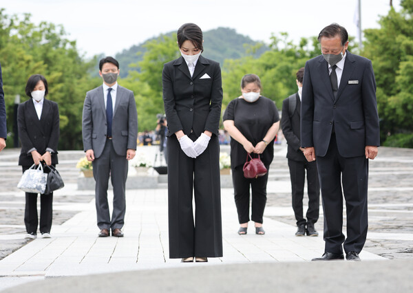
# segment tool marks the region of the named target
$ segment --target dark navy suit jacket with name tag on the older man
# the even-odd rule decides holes
[[[366,146],[380,144],[372,62],[348,51],[336,99],[322,55],[307,61],[304,69],[301,146],[314,146],[315,154],[324,157],[333,124],[337,148],[345,158],[362,156]]]

